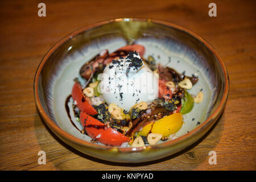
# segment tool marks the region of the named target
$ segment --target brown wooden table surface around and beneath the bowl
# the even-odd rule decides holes
[[[0,169],[2,170],[255,170],[255,1],[0,1]],[[208,16],[210,2],[217,17]],[[58,40],[101,20],[137,17],[176,23],[208,40],[228,68],[224,113],[197,143],[173,156],[143,164],[94,159],[61,142],[40,118],[33,79],[42,57]],[[46,165],[38,152],[46,151]],[[217,164],[208,163],[209,151]]]

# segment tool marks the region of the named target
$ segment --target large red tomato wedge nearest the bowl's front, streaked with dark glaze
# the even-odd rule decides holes
[[[112,127],[107,127],[104,123],[84,112],[80,113],[80,121],[86,134],[108,146],[121,146],[123,142],[129,142],[131,140]]]

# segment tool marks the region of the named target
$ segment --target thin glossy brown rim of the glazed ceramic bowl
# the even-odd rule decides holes
[[[142,151],[142,150],[150,149],[150,148],[151,149],[156,149],[156,148],[168,147],[168,146],[171,146],[173,144],[183,142],[184,140],[187,140],[188,138],[192,137],[192,135],[200,133],[200,131],[204,130],[205,127],[207,127],[208,125],[213,125],[213,123],[217,120],[217,118],[220,117],[220,114],[222,113],[222,110],[224,109],[226,100],[228,99],[228,93],[229,93],[228,71],[227,71],[220,55],[218,55],[217,51],[206,40],[204,40],[203,38],[201,38],[199,35],[195,34],[194,32],[192,32],[190,30],[187,30],[186,28],[177,26],[176,24],[173,24],[173,23],[170,23],[170,22],[164,22],[163,20],[147,19],[147,18],[118,18],[118,19],[105,20],[103,22],[90,24],[89,26],[80,28],[79,30],[74,31],[71,34],[68,34],[63,39],[61,39],[59,42],[57,42],[51,49],[49,49],[49,51],[43,57],[42,61],[39,63],[39,66],[38,66],[38,69],[36,70],[35,78],[34,78],[35,102],[36,102],[36,106],[38,107],[40,115],[43,117],[44,121],[51,128],[51,130],[55,131],[55,133],[57,133],[58,135],[63,136],[65,139],[68,139],[71,142],[79,144],[80,146],[92,147],[92,148],[96,148],[96,149],[99,149],[99,150],[111,150],[112,148],[114,148],[113,146],[101,146],[99,144],[86,142],[85,140],[81,140],[79,138],[76,138],[73,135],[68,134],[66,131],[60,129],[60,127],[57,126],[51,120],[51,118],[48,117],[48,115],[46,114],[46,111],[44,111],[43,106],[40,103],[39,94],[38,94],[38,82],[39,82],[39,76],[41,74],[41,71],[44,67],[44,64],[48,60],[49,56],[51,56],[52,53],[57,48],[59,48],[59,46],[61,46],[61,44],[63,44],[65,41],[67,41],[71,37],[83,32],[85,30],[89,30],[90,28],[98,27],[98,26],[101,26],[103,24],[112,23],[112,22],[121,22],[121,21],[133,21],[133,20],[137,20],[137,21],[141,21],[141,22],[151,21],[153,23],[158,23],[158,24],[163,24],[163,25],[168,26],[168,27],[173,27],[173,28],[176,28],[178,30],[186,32],[187,34],[193,36],[194,38],[196,38],[200,42],[204,43],[204,45],[214,54],[214,56],[216,56],[218,62],[221,65],[222,71],[224,72],[224,75],[225,75],[225,90],[224,90],[224,93],[222,95],[221,101],[218,104],[218,107],[216,108],[214,113],[211,114],[201,125],[199,125],[195,129],[193,129],[189,133],[187,133],[187,134],[185,134],[185,135],[183,135],[179,138],[176,138],[174,140],[170,140],[168,142],[156,144],[154,146],[144,146],[144,147],[138,147],[138,148],[136,148],[136,147],[117,147],[118,151],[121,151],[121,152],[137,152],[137,151]]]

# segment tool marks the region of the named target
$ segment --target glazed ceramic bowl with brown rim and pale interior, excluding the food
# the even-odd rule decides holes
[[[152,55],[158,63],[198,76],[199,82],[189,93],[196,95],[201,90],[203,102],[195,104],[191,113],[184,116],[184,125],[174,139],[138,148],[91,143],[88,135],[72,125],[65,111],[73,78],[79,77],[80,67],[102,49],[113,52],[132,43],[145,47],[144,57]],[[228,92],[228,72],[209,43],[183,27],[153,19],[114,19],[72,32],[47,52],[34,80],[38,111],[57,137],[84,154],[121,163],[164,158],[195,143],[217,121]]]

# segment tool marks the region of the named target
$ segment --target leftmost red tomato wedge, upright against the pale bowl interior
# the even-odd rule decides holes
[[[82,86],[78,82],[75,82],[73,85],[72,97],[76,101],[80,111],[84,111],[90,115],[98,114],[97,110],[92,106],[90,98],[84,96],[82,93]]]

